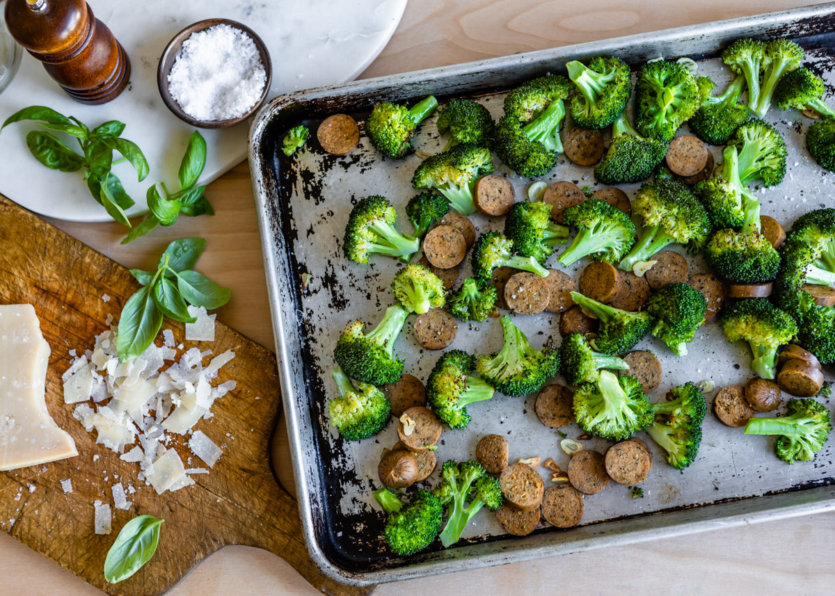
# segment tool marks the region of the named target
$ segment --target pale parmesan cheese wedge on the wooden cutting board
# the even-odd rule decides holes
[[[0,305],[0,471],[78,455],[47,410],[49,353],[32,305]]]

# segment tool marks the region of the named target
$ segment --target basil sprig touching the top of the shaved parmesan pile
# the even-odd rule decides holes
[[[120,361],[133,360],[151,345],[163,316],[193,323],[195,317],[189,314],[188,305],[211,310],[229,301],[229,288],[192,270],[205,245],[202,238],[175,240],[159,257],[156,271],[130,270],[142,287],[130,296],[119,317],[116,350]]]

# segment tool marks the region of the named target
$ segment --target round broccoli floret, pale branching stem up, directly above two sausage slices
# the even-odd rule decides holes
[[[585,431],[621,441],[652,424],[652,407],[634,376],[600,371],[594,383],[574,391],[574,418]]]

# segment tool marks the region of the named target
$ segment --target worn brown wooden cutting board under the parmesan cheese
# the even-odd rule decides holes
[[[193,486],[158,495],[136,480],[138,464],[123,462],[118,454],[97,445],[94,433],[73,418],[73,406],[63,402],[61,381],[69,351],[92,348],[94,337],[106,329],[107,316],[118,320],[124,302],[138,287],[122,265],[0,196],[0,304],[35,307],[52,348],[47,407],[73,436],[79,453],[61,462],[0,472],[0,528],[112,594],[164,593],[227,544],[276,553],[323,593],[371,593],[373,588],[349,588],[326,578],[308,557],[296,502],[270,467],[268,448],[281,396],[276,357],[263,346],[220,323],[215,341],[185,342],[187,348],[196,345],[214,354],[235,351],[235,359],[220,370],[218,381],[237,381],[235,391],[215,402],[215,416],[195,427],[223,447],[224,454],[209,474],[193,476]],[[109,302],[102,300],[105,294]],[[166,319],[163,328],[183,341],[182,324]],[[193,455],[182,437],[173,437],[172,446],[185,463]],[[200,465],[195,457],[191,467]],[[63,492],[64,478],[72,480],[73,492]],[[112,507],[115,482],[137,488],[129,495],[134,503],[129,511]],[[114,513],[113,533],[108,536],[94,533],[96,499],[110,503]],[[119,529],[143,513],[165,520],[159,548],[139,573],[109,584],[104,580],[104,557]]]

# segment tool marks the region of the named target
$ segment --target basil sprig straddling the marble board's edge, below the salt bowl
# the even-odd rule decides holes
[[[148,217],[135,228],[131,228],[122,244],[126,245],[140,236],[148,234],[158,225],[174,225],[180,214],[189,217],[197,215],[215,215],[203,193],[205,186],[195,186],[206,164],[206,142],[195,130],[185,148],[185,155],[180,162],[180,190],[170,193],[164,182],[154,184],[148,189]]]

